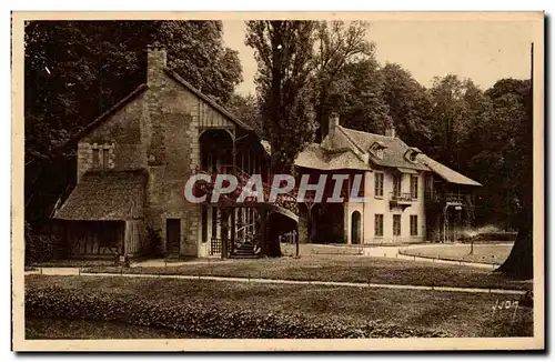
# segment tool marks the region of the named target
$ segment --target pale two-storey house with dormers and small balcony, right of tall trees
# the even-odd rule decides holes
[[[359,174],[363,190],[359,200],[345,198],[341,205],[313,205],[309,240],[396,244],[458,238],[472,209],[473,188],[480,183],[407,145],[394,129],[386,134],[352,130],[340,125],[337,114],[330,117],[327,129],[320,144],[301,152],[297,168],[316,174]],[[326,227],[332,219],[334,232]]]

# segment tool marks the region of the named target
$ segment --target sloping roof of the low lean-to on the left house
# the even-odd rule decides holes
[[[63,220],[132,220],[143,217],[147,172],[85,173],[56,212]]]

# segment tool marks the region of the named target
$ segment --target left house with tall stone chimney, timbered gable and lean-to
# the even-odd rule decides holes
[[[78,135],[78,181],[54,213],[74,257],[139,257],[153,234],[165,255],[219,255],[221,208],[188,202],[185,182],[198,172],[265,173],[252,128],[168,68],[165,49],[147,53],[147,83]],[[243,233],[256,218],[255,208],[229,215]]]

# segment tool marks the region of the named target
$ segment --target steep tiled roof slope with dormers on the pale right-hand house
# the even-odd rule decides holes
[[[359,149],[370,153],[370,159],[375,164],[391,168],[405,168],[430,171],[430,169],[425,164],[418,161],[411,162],[405,158],[405,152],[411,148],[396,137],[394,138],[382,134],[367,133],[344,127],[340,127],[340,130],[343,131],[344,134],[346,134],[347,138],[350,138]],[[385,149],[383,150],[383,158],[381,159],[370,152],[370,148],[375,142],[379,142],[383,147],[385,147]]]

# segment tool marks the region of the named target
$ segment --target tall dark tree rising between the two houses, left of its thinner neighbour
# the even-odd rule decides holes
[[[313,21],[246,21],[245,44],[254,49],[256,92],[274,172],[292,172],[314,135]]]

